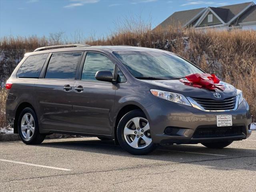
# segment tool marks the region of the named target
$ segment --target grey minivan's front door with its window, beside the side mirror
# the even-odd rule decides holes
[[[82,75],[74,87],[74,126],[78,132],[112,134],[112,114],[116,86],[98,81],[99,70],[114,70],[114,63],[100,52],[87,52]]]

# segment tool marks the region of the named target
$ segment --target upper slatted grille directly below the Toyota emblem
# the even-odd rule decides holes
[[[224,100],[213,100],[207,98],[193,98],[205,110],[231,110],[236,106],[236,96]]]

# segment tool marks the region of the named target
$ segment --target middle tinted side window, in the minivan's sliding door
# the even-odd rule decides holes
[[[53,54],[48,64],[45,78],[48,79],[75,79],[76,68],[82,53]]]

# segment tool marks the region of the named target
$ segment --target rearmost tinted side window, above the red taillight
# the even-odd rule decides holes
[[[47,56],[48,53],[29,56],[20,66],[16,76],[20,78],[38,78]]]

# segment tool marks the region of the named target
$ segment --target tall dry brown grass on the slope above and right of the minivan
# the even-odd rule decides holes
[[[118,32],[106,38],[88,38],[83,42],[90,45],[142,46],[179,54],[206,72],[215,73],[223,81],[241,89],[250,105],[253,120],[256,121],[256,31],[200,32],[182,28],[151,30],[150,25],[140,24],[138,28],[134,25],[136,22],[120,27]],[[73,43],[59,36],[58,41]],[[0,49],[23,49],[29,52],[40,46],[51,45],[53,42],[45,37],[9,37],[0,40]]]

